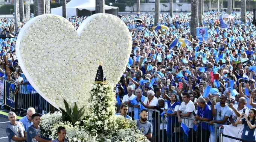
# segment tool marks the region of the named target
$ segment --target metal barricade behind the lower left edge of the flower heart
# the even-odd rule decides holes
[[[20,115],[22,112],[26,112],[29,107],[34,107],[35,111],[41,115],[56,111],[56,108],[44,100],[38,92],[30,92],[27,89],[27,85],[20,85],[20,90],[18,92],[17,108],[21,110]]]

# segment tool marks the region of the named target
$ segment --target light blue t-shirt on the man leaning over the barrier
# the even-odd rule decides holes
[[[216,109],[216,115],[214,117],[214,120],[216,121],[221,121],[224,119],[225,116],[230,117],[232,114],[232,111],[229,106],[227,106],[227,104],[225,105],[225,107],[221,107],[220,103],[216,103],[214,109]],[[217,127],[221,127],[222,125],[227,125],[227,122],[225,122],[224,124],[217,124]]]

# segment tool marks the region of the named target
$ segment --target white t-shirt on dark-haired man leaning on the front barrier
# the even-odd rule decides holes
[[[187,103],[187,105],[185,105],[185,102],[182,102],[180,107],[179,107],[179,110],[183,114],[186,114],[187,112],[191,112],[189,118],[194,119],[194,116],[193,116],[192,112],[195,111],[195,105],[191,100],[189,100],[189,103]],[[187,119],[187,118],[181,118],[181,121],[188,128],[193,128],[193,120]]]

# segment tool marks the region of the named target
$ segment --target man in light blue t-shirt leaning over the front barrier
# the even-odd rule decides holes
[[[214,117],[214,120],[209,122],[209,125],[213,125],[213,123],[217,123],[217,127],[220,127],[221,125],[227,125],[227,119],[232,119],[230,117],[232,115],[232,110],[227,106],[226,104],[227,96],[221,95],[219,97],[219,103],[216,103],[212,99],[212,116]],[[215,129],[215,125],[213,125],[213,128]],[[219,139],[219,129],[217,129],[217,136],[215,137],[215,133],[211,133],[210,140],[212,142],[215,141],[215,139]],[[223,129],[221,129],[221,133],[223,133]]]

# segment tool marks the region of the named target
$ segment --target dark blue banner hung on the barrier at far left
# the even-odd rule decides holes
[[[15,89],[16,85],[5,80],[5,105],[15,109]]]

